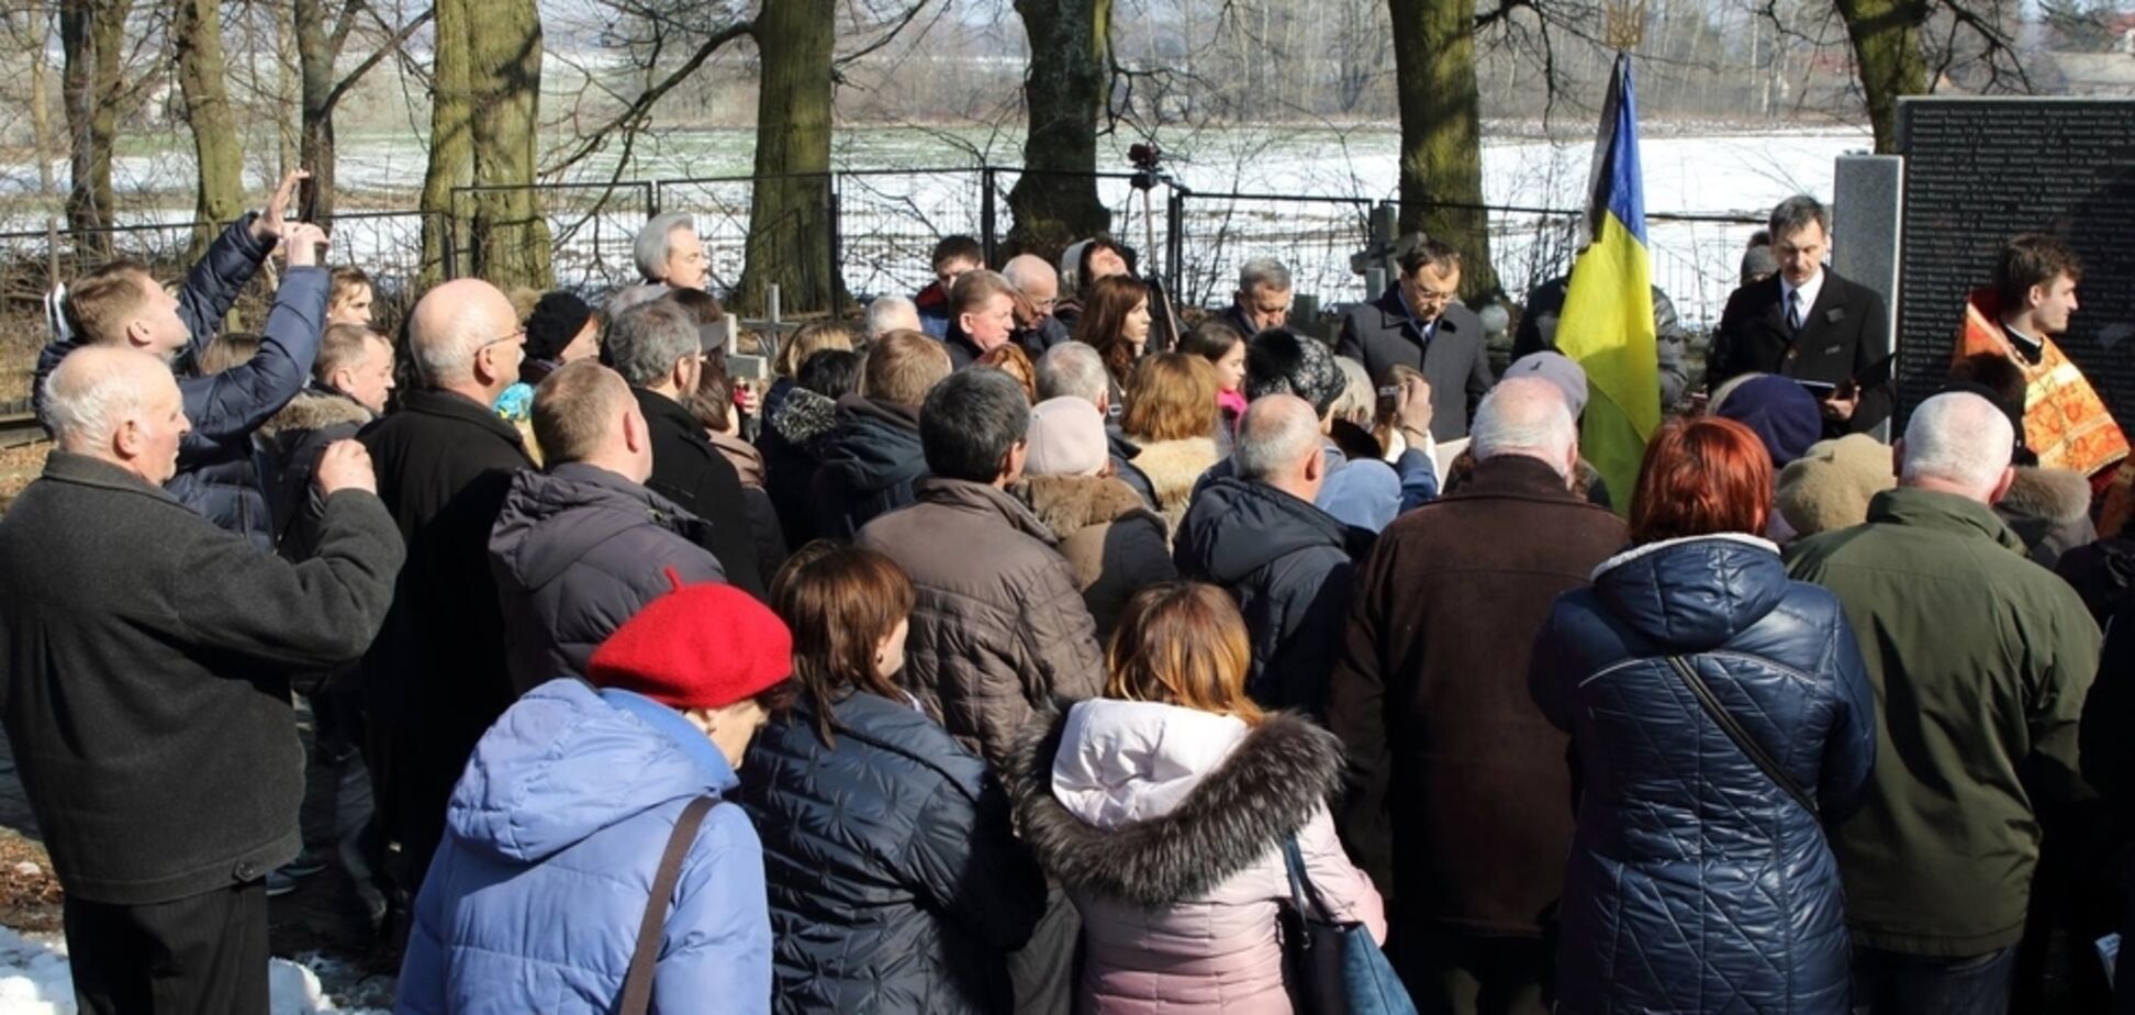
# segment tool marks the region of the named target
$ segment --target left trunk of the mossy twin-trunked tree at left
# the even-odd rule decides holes
[[[474,179],[470,135],[468,21],[470,0],[438,0],[431,24],[429,167],[423,171],[423,284],[459,274],[459,237],[468,235],[453,188]]]

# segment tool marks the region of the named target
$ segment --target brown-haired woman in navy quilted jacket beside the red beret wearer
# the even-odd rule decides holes
[[[773,1011],[1010,1011],[1008,951],[1046,883],[986,763],[897,684],[912,581],[811,543],[771,583],[794,633],[792,714],[758,733],[741,801],[764,840]]]

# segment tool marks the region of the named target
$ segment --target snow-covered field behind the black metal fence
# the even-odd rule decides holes
[[[1123,147],[1127,139],[1119,139]],[[717,280],[741,271],[749,216],[747,130],[673,132],[640,152],[626,179],[662,179],[662,212],[694,212],[713,254]],[[1781,199],[1808,192],[1832,197],[1834,158],[1870,147],[1866,130],[1648,132],[1642,141],[1648,239],[1655,282],[1674,295],[1691,323],[1719,316],[1736,284],[1740,254],[1755,224],[1670,222],[1670,214],[1761,218]],[[1396,197],[1398,135],[1386,128],[1238,128],[1204,130],[1166,150],[1176,182],[1191,190],[1185,203],[1187,301],[1221,303],[1240,261],[1272,254],[1298,276],[1298,293],[1322,303],[1364,299],[1362,278],[1349,254],[1369,237],[1369,207]],[[1505,137],[1484,145],[1484,192],[1490,205],[1578,209],[1593,158],[1591,139],[1541,141]],[[927,250],[939,235],[978,233],[984,207],[980,162],[1016,165],[1012,137],[916,128],[869,128],[839,135],[841,171],[880,171],[839,179],[841,267],[852,293],[914,291],[929,278]],[[395,194],[389,207],[412,205],[423,179],[423,147],[412,137],[348,137],[342,143],[339,182],[348,192]],[[1110,165],[1125,171],[1125,156]],[[557,237],[557,276],[564,284],[604,286],[630,280],[630,237],[647,212],[647,192],[619,192],[594,212],[598,188],[613,162],[581,165],[551,205]],[[120,158],[120,190],[171,186],[190,179],[190,156]],[[32,165],[0,167],[0,192],[34,188]],[[64,177],[64,167],[62,167]],[[258,171],[250,179],[265,188]],[[1006,192],[1012,171],[995,173],[997,222],[1008,229]],[[1168,229],[1164,188],[1155,194],[1157,241]],[[1245,197],[1225,197],[1245,194]],[[1307,194],[1317,201],[1268,194]],[[1114,212],[1114,233],[1144,246],[1140,201],[1125,179],[1100,182],[1100,197]],[[369,203],[369,201],[363,201]],[[566,207],[568,205],[568,207]],[[188,207],[130,216],[137,222],[184,222]],[[41,250],[43,222],[6,222],[30,235],[0,235],[6,250]],[[1492,261],[1503,286],[1518,297],[1567,269],[1576,224],[1561,214],[1497,212],[1490,218]],[[348,218],[337,227],[337,261],[376,267],[395,278],[412,274],[418,256],[416,216]],[[181,231],[162,231],[149,244],[181,244]]]

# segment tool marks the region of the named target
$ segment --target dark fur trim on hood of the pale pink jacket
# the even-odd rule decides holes
[[[1085,825],[1053,795],[1065,707],[1055,703],[1016,735],[1008,791],[1023,842],[1068,889],[1146,908],[1206,895],[1302,829],[1341,786],[1341,739],[1275,712],[1170,814],[1117,829]]]

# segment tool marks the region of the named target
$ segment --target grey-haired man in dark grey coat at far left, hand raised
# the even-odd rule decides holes
[[[401,541],[331,444],[316,556],[260,553],[162,485],[192,430],[122,346],[45,378],[58,449],[0,519],[0,722],[66,889],[83,1013],[267,1013],[269,870],[297,857],[290,673],[357,658]]]

